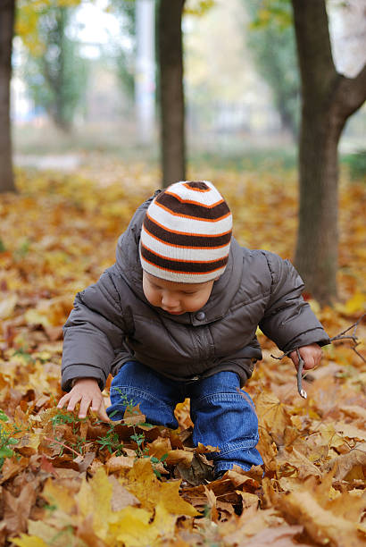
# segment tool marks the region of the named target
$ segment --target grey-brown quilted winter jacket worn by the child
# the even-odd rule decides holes
[[[329,343],[295,268],[277,255],[241,248],[233,238],[229,263],[212,294],[195,313],[171,316],[148,303],[138,256],[141,224],[152,198],[137,209],[119,241],[116,263],[76,296],[64,326],[62,389],[108,374],[137,360],[169,378],[186,380],[230,370],[241,384],[262,358],[257,326],[279,349]]]

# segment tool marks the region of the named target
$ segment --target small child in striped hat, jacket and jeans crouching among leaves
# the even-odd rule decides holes
[[[277,255],[241,248],[229,206],[208,181],[155,192],[118,242],[116,263],[78,293],[64,328],[59,402],[79,417],[108,420],[101,391],[108,374],[114,420],[126,400],[146,422],[177,428],[174,408],[190,398],[193,442],[217,446],[215,475],[262,463],[258,421],[239,391],[262,358],[262,332],[297,365],[320,362],[329,337],[304,302],[304,283]]]

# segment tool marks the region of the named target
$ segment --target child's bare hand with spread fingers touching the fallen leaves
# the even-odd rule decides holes
[[[78,402],[80,403],[79,418],[87,416],[87,408],[91,405],[91,409],[97,412],[101,420],[110,422],[105,412],[102,393],[94,378],[79,378],[72,390],[60,399],[57,408],[63,408],[66,403],[69,403],[66,409],[74,410]]]

